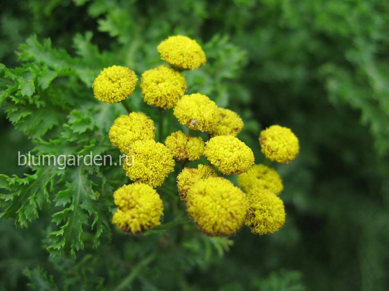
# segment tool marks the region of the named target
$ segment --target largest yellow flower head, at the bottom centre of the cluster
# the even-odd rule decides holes
[[[243,225],[246,194],[229,180],[211,177],[198,181],[186,196],[187,210],[196,225],[209,236],[229,236]]]

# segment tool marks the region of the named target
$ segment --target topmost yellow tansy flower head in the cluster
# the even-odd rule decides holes
[[[183,35],[168,37],[158,45],[157,50],[162,60],[181,70],[193,70],[207,61],[198,43]]]

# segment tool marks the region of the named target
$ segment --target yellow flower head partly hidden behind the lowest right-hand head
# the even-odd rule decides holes
[[[268,189],[276,195],[283,191],[280,175],[263,164],[253,165],[247,173],[238,175],[238,184],[245,192],[256,187]]]

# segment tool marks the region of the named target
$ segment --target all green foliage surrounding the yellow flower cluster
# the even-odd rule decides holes
[[[0,11],[1,290],[388,290],[387,2],[30,0]],[[179,33],[208,59],[184,72],[189,91],[242,116],[256,162],[260,129],[300,139],[300,157],[277,166],[287,219],[274,236],[202,235],[173,207],[170,178],[163,224],[129,237],[110,223],[120,166],[16,165],[18,150],[117,161],[107,134],[125,110],[96,101],[91,83],[106,66],[140,76],[162,64],[156,46]],[[139,88],[128,101],[157,120]]]

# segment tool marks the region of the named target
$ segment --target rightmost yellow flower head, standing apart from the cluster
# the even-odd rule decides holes
[[[259,137],[261,151],[270,161],[288,163],[299,154],[299,140],[292,130],[272,125],[262,130]]]

